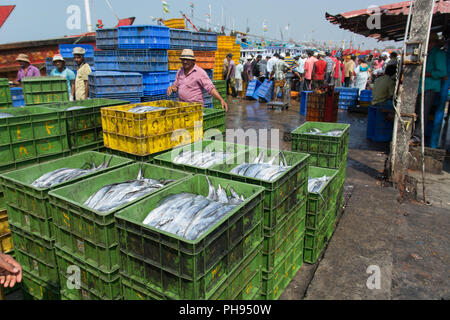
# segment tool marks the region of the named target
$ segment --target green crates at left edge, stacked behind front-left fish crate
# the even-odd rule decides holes
[[[0,172],[60,157],[69,151],[66,122],[53,109],[9,108],[0,119]]]

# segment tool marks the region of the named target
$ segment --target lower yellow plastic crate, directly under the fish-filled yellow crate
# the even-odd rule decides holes
[[[148,156],[203,140],[203,125],[145,138],[103,132],[103,138],[107,148]]]

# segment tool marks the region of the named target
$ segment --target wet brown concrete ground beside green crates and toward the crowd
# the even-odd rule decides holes
[[[278,129],[284,150],[290,150],[284,134],[306,121],[298,102],[284,111],[255,101],[229,103],[227,128]],[[366,140],[367,115],[340,111],[339,122],[351,124],[345,209],[322,258],[305,263],[280,299],[450,299],[450,159],[446,172],[426,174],[431,205],[400,204],[381,179],[389,144]],[[421,181],[420,173],[411,175]],[[379,289],[367,286],[373,270],[380,272]]]

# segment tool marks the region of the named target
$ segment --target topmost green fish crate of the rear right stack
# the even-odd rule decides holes
[[[332,130],[344,130],[344,132],[337,137],[307,134],[306,132],[311,128],[317,128],[323,132]],[[306,122],[291,132],[292,150],[309,153],[312,166],[338,169],[347,159],[349,136],[349,124]]]

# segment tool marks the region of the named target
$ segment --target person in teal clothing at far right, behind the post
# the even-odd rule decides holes
[[[439,94],[441,91],[442,81],[447,78],[447,56],[440,48],[441,43],[437,33],[430,34],[430,41],[428,44],[429,53],[427,58],[427,66],[425,73],[425,94],[424,94],[424,125],[428,123],[428,117],[430,116],[431,108],[433,106],[433,101],[435,94]],[[420,144],[421,137],[421,119],[420,119],[420,109],[421,109],[421,92],[422,92],[422,82],[419,85],[419,95],[417,96],[416,103],[416,129],[414,130],[413,137],[411,139],[411,144]]]

